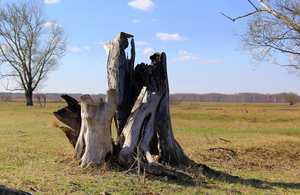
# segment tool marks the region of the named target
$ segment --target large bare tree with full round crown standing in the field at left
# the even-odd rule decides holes
[[[7,1],[0,5],[0,79],[7,90],[23,90],[26,105],[32,92],[57,70],[67,48],[65,30],[49,22],[43,2]],[[9,87],[9,81],[14,85]]]

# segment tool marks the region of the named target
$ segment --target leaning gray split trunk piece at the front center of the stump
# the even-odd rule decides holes
[[[142,88],[123,129],[119,161],[127,163],[133,157],[137,157],[138,145],[139,157],[143,153],[146,156],[146,152],[150,150],[149,143],[154,133],[155,110],[159,100],[160,96],[157,93],[147,91],[146,87]]]

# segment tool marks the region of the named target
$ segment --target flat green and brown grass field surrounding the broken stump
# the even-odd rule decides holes
[[[33,194],[195,194],[194,181],[78,168],[53,111],[0,102],[0,184]],[[174,136],[188,156],[220,174],[199,173],[199,194],[300,194],[300,104],[182,102],[171,105]],[[227,141],[223,141],[223,140]],[[198,144],[198,151],[197,151]],[[223,147],[227,150],[206,150]],[[190,168],[179,167],[187,174]],[[167,180],[166,180],[167,179]],[[34,189],[38,191],[34,191]]]

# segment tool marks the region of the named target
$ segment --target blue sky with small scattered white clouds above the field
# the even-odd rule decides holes
[[[262,63],[253,71],[251,54],[235,50],[238,37],[232,29],[242,31],[247,18],[232,22],[220,12],[244,15],[253,10],[247,0],[46,0],[45,6],[66,29],[69,49],[44,92],[105,93],[103,43],[123,31],[134,35],[135,64],[151,63],[155,52],[166,53],[170,93],[300,94],[299,79],[284,67]]]

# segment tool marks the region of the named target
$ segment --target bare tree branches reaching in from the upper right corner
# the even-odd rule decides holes
[[[240,51],[251,53],[251,62],[271,62],[286,67],[290,74],[300,76],[300,2],[298,0],[258,0],[254,11],[234,19],[247,17],[240,37]],[[286,64],[277,62],[277,55],[287,55]]]

